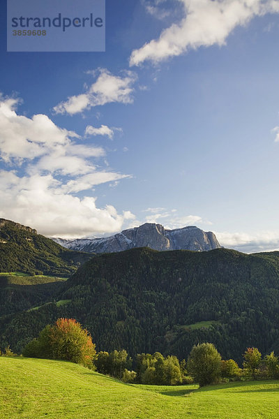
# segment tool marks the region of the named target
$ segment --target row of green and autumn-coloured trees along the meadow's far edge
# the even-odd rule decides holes
[[[2,356],[15,355],[6,348]],[[188,360],[179,361],[174,355],[160,352],[140,353],[133,359],[126,350],[96,352],[89,332],[70,318],[59,318],[47,325],[24,348],[22,355],[31,358],[67,360],[96,370],[125,383],[179,385],[199,383],[200,386],[229,380],[279,379],[279,360],[271,352],[262,358],[257,348],[247,348],[243,367],[236,361],[223,360],[211,343],[194,345]]]

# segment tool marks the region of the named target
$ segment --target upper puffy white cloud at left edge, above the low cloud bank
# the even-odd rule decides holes
[[[80,140],[80,135],[59,128],[47,115],[17,115],[18,103],[0,96],[0,149],[6,163],[18,166],[29,161],[30,173],[49,170],[67,175],[89,172],[94,167],[86,159],[105,156],[102,147],[75,142],[73,138]]]

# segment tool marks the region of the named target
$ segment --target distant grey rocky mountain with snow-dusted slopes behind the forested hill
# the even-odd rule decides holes
[[[150,247],[158,251],[209,251],[220,248],[216,235],[211,231],[205,232],[195,226],[167,230],[156,223],[128,228],[110,237],[74,240],[52,237],[52,240],[67,249],[92,253],[113,253],[135,247]]]

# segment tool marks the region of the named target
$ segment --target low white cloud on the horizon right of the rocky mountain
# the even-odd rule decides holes
[[[256,253],[260,251],[279,250],[279,232],[262,231],[251,235],[248,233],[216,233],[221,246],[242,251]]]

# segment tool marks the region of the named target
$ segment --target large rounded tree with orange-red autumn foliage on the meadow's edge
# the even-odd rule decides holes
[[[67,360],[90,368],[95,354],[89,332],[73,318],[59,318],[54,325],[47,325],[23,351],[24,356]]]

